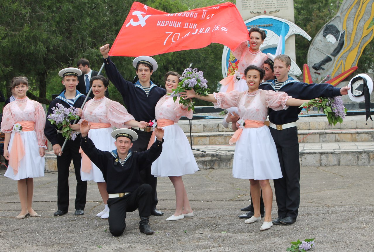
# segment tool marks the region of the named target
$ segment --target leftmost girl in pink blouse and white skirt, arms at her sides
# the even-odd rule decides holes
[[[42,104],[26,96],[26,77],[13,78],[10,86],[17,98],[3,109],[1,131],[5,133],[4,157],[9,160],[4,176],[18,180],[21,213],[17,219],[24,219],[28,215],[37,217],[32,207],[33,178],[44,177],[46,114]]]

